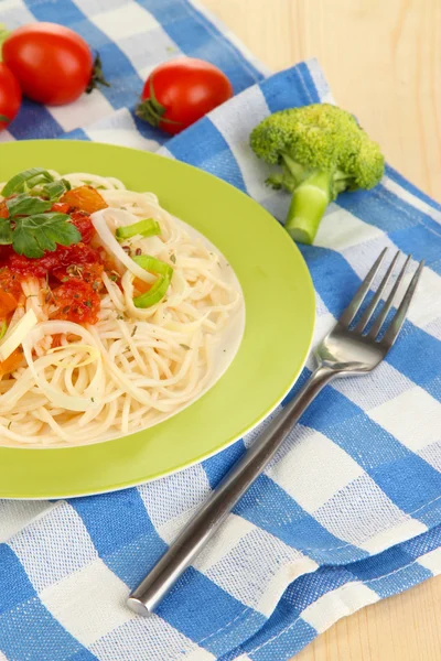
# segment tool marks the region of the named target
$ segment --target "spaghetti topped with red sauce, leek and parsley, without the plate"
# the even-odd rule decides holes
[[[213,384],[244,312],[213,246],[112,177],[34,169],[0,189],[0,444],[126,435]]]

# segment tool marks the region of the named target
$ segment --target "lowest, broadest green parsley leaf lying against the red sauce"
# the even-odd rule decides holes
[[[19,254],[30,258],[43,257],[44,251],[53,252],[56,245],[71,246],[82,239],[82,235],[66,214],[35,214],[26,218],[15,218],[12,232],[12,247]]]

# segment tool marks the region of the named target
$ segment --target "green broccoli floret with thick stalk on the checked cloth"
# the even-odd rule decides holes
[[[252,130],[250,144],[260,159],[281,165],[267,183],[292,193],[284,226],[302,243],[312,243],[338,193],[373,188],[385,169],[379,145],[349,112],[330,104],[270,115]]]

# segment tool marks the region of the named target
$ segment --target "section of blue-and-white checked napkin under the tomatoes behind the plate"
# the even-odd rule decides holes
[[[75,106],[45,108],[24,99],[0,140],[63,138],[68,131],[85,138],[84,129],[97,122],[93,131],[99,136],[93,140],[157,149],[168,137],[133,111],[154,66],[182,54],[203,57],[227,74],[236,94],[263,77],[252,56],[241,54],[244,46],[202,10],[186,0],[1,0],[0,22],[10,30],[35,21],[75,30],[99,52],[111,86],[84,95]]]

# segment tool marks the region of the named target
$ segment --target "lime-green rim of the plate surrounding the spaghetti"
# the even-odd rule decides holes
[[[0,145],[0,181],[28,167],[117,176],[211,239],[246,302],[239,351],[194,404],[144,432],[68,448],[0,447],[0,498],[61,498],[122,489],[216,454],[281,401],[310,350],[314,290],[286,231],[256,202],[201,170],[148,152],[62,140]]]

